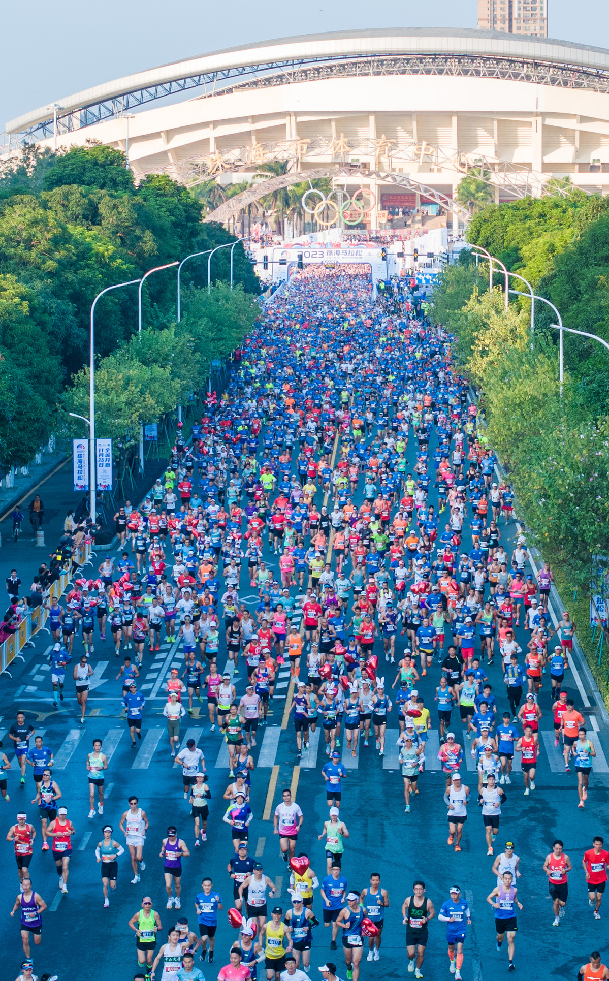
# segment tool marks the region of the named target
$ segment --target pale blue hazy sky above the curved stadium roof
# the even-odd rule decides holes
[[[306,7],[256,0],[220,7],[192,0],[3,4],[0,129],[91,85],[218,48],[348,27],[477,26],[477,0],[393,7],[391,14],[369,0],[313,0]],[[548,22],[550,37],[609,48],[608,0],[548,0]]]

